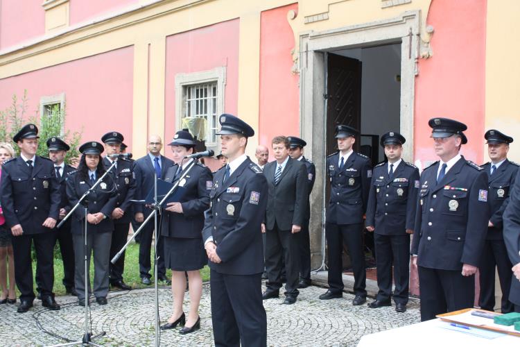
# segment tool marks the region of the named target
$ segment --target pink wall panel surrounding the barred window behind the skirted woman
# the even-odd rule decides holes
[[[164,143],[177,130],[175,113],[175,75],[226,67],[224,112],[236,115],[239,88],[239,19],[232,19],[193,31],[166,37],[166,96]],[[240,117],[240,115],[237,115]],[[165,155],[171,158],[166,148]],[[206,160],[216,169],[212,160]]]

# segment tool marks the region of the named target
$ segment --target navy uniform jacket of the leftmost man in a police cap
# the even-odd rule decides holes
[[[53,162],[36,155],[31,173],[26,162],[17,157],[3,164],[1,175],[1,206],[6,226],[20,224],[24,235],[51,231],[42,223],[48,217],[58,221],[60,212],[60,184]]]

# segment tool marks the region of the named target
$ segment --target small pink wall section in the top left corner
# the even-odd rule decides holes
[[[0,49],[45,33],[42,0],[0,0]]]

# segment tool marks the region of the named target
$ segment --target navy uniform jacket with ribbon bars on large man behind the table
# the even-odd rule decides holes
[[[486,174],[462,157],[437,183],[438,167],[435,162],[421,175],[412,253],[430,269],[478,266],[489,221]]]

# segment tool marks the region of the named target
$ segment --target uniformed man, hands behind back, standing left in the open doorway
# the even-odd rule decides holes
[[[331,197],[327,208],[325,236],[329,251],[329,290],[320,299],[343,296],[342,251],[347,245],[354,269],[352,305],[367,301],[365,253],[363,252],[363,215],[367,207],[372,164],[363,154],[352,150],[358,130],[344,125],[336,126],[339,151],[327,158],[327,174],[331,180]]]

